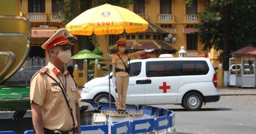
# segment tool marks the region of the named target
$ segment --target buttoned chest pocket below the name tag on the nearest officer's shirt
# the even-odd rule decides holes
[[[52,93],[50,94],[52,102],[62,102],[62,101],[64,101],[64,95],[63,95],[62,90],[59,86],[50,86],[50,89],[52,91]]]

